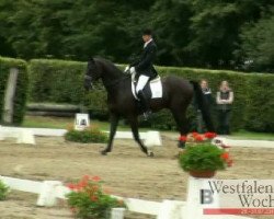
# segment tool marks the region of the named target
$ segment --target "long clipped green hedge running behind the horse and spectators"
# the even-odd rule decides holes
[[[106,118],[106,94],[101,83],[96,89],[85,93],[82,81],[85,62],[43,60],[30,62],[31,101],[83,104],[93,117]],[[124,66],[119,65],[119,68]],[[191,80],[206,79],[214,96],[219,83],[227,80],[235,91],[232,110],[232,129],[247,128],[255,131],[274,131],[274,76],[264,73],[240,73],[226,70],[205,70],[192,68],[158,67],[160,76],[178,76]],[[213,107],[213,111],[215,107]],[[260,113],[259,113],[260,112]],[[213,115],[216,115],[213,112]],[[189,116],[195,118],[190,107]],[[169,122],[169,123],[167,123]],[[215,118],[216,122],[216,118]],[[152,116],[142,125],[152,128],[175,129],[174,120],[168,111]]]

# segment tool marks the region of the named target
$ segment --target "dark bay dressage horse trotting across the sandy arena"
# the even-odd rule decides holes
[[[92,89],[92,82],[99,79],[102,79],[103,85],[107,92],[107,105],[111,118],[109,143],[102,151],[102,154],[107,154],[107,152],[112,151],[113,138],[116,132],[118,120],[121,117],[125,117],[128,120],[134,138],[140,146],[142,152],[147,155],[153,155],[152,152],[148,152],[147,147],[144,146],[139,138],[138,115],[141,112],[132,93],[130,76],[123,73],[114,64],[105,59],[92,58],[88,61],[88,69],[84,76],[85,90]],[[178,77],[167,77],[161,79],[161,81],[163,95],[162,99],[152,99],[150,101],[150,110],[152,112],[169,108],[176,122],[181,136],[185,136],[187,134],[185,117],[186,108],[195,94],[207,129],[209,131],[214,130],[209,113],[203,101],[202,90],[197,82],[186,81]]]

